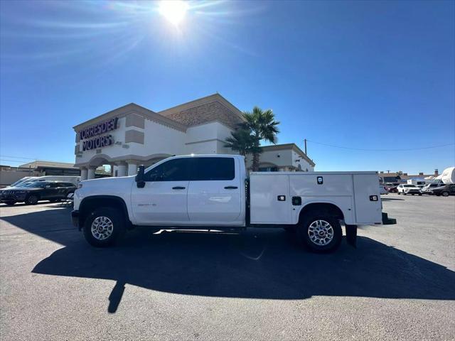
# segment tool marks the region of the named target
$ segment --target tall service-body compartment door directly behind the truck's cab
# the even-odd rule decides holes
[[[250,222],[252,224],[291,222],[289,175],[250,174]]]

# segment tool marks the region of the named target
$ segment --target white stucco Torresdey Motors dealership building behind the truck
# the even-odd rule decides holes
[[[136,174],[139,164],[149,166],[168,156],[236,153],[224,146],[225,139],[242,120],[242,112],[220,94],[162,112],[127,104],[73,127],[75,166],[85,180],[94,178],[101,165],[124,176]],[[259,164],[264,171],[313,171],[314,166],[295,144],[263,147]]]

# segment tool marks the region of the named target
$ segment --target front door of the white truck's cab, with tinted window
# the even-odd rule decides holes
[[[191,166],[191,158],[173,158],[144,174],[144,188],[134,183],[131,200],[137,224],[188,223]]]

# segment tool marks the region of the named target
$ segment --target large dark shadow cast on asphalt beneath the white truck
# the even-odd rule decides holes
[[[50,226],[50,215],[60,223]],[[299,247],[293,234],[281,229],[152,234],[138,228],[116,247],[95,249],[71,228],[67,209],[1,220],[65,245],[36,264],[33,273],[117,281],[109,295],[109,313],[117,310],[126,284],[232,298],[455,300],[454,271],[368,237],[358,237],[358,249],[343,242],[333,254],[311,254]]]

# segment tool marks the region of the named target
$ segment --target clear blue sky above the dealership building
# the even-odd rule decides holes
[[[74,162],[75,124],[220,92],[319,171],[454,166],[454,1],[191,1],[178,27],[158,6],[1,1],[0,163]]]

